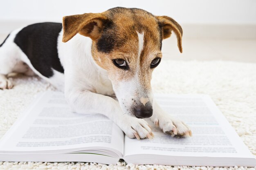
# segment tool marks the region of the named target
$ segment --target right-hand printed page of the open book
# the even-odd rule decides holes
[[[125,136],[125,156],[253,157],[209,96],[157,95],[155,99],[168,114],[188,124],[193,137],[166,135],[148,119],[155,137],[138,141]]]

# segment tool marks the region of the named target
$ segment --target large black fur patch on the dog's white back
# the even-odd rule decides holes
[[[61,29],[61,23],[32,24],[20,30],[14,39],[33,67],[48,78],[53,75],[52,69],[64,73],[57,50],[57,39]]]

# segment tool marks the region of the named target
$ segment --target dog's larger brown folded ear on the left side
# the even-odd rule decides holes
[[[84,13],[63,17],[63,42],[69,41],[77,33],[96,40],[108,18],[102,13]]]

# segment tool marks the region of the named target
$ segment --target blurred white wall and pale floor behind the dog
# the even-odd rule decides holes
[[[65,15],[112,7],[141,8],[168,15],[183,28],[183,53],[175,36],[164,40],[168,60],[256,62],[256,0],[5,0],[0,6],[0,42],[20,26],[61,22]]]

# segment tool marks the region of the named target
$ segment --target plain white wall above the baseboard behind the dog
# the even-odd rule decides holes
[[[2,0],[0,21],[61,21],[64,15],[137,7],[183,24],[256,24],[256,0]]]

